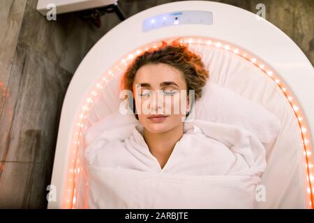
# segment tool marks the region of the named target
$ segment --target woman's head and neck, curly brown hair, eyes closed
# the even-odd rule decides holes
[[[138,56],[126,71],[122,86],[132,91],[135,99],[140,99],[133,99],[135,117],[144,127],[142,135],[160,168],[165,167],[174,146],[184,135],[183,117],[188,116],[192,107],[190,101],[202,96],[202,87],[208,78],[209,72],[200,57],[176,41],[170,45],[163,42],[160,49]],[[186,100],[190,97],[189,90],[195,95],[192,100]],[[181,93],[186,93],[187,97],[181,97]],[[142,109],[147,101],[145,114]],[[176,114],[174,106],[181,108],[182,104],[186,105],[186,110]],[[170,111],[166,112],[166,107],[170,107]],[[140,114],[136,108],[140,108]]]

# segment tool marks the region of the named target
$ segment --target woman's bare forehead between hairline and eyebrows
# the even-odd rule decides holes
[[[162,82],[175,82],[181,88],[186,86],[182,72],[165,63],[142,66],[137,70],[133,84],[149,83],[151,86],[159,86]]]

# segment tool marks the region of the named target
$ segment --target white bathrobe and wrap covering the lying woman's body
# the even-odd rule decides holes
[[[184,123],[161,169],[142,125],[126,139],[114,139],[119,131],[103,132],[86,148],[89,208],[254,208],[266,160],[251,132],[210,121]]]

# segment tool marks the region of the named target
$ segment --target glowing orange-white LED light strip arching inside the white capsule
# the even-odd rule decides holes
[[[171,39],[174,40],[174,39]],[[167,40],[167,43],[169,43],[171,40]],[[164,40],[165,41],[165,40]],[[165,41],[166,42],[166,41]],[[277,77],[277,75],[274,74],[274,72],[268,68],[265,63],[260,62],[259,59],[257,59],[255,56],[249,55],[247,52],[245,52],[242,49],[239,49],[238,47],[235,47],[233,45],[230,45],[230,43],[225,44],[221,41],[210,39],[210,38],[195,38],[195,37],[184,37],[179,39],[179,43],[188,43],[191,45],[211,45],[213,47],[218,47],[221,49],[225,49],[229,52],[232,52],[234,54],[237,54],[238,56],[243,57],[247,61],[250,61],[255,66],[257,66],[258,69],[262,70],[266,75],[268,75],[274,83],[281,89],[285,97],[287,98],[288,102],[290,103],[294,114],[297,118],[297,121],[299,123],[300,133],[302,137],[302,143],[304,146],[304,157],[305,157],[305,171],[306,171],[306,187],[307,187],[307,193],[308,193],[308,208],[313,208],[313,200],[314,200],[314,171],[313,171],[313,158],[312,158],[312,147],[310,144],[310,137],[308,133],[308,128],[306,126],[306,123],[304,123],[304,118],[301,114],[301,111],[299,109],[299,106],[297,105],[297,102],[295,102],[294,97],[292,96],[292,93],[290,93],[287,90],[287,87],[281,82],[280,78]],[[117,73],[121,72],[121,69],[126,68],[128,63],[133,61],[133,59],[139,55],[142,54],[144,51],[148,51],[150,49],[157,49],[162,45],[161,41],[158,43],[153,43],[150,45],[145,45],[144,47],[140,47],[140,49],[136,49],[134,52],[127,54],[126,56],[123,56],[121,60],[118,61],[118,63],[115,63],[110,70],[105,72],[103,77],[101,77],[93,89],[91,89],[89,95],[87,95],[87,98],[84,100],[84,104],[82,105],[82,111],[80,112],[79,116],[77,117],[77,124],[75,125],[75,134],[73,134],[73,144],[70,146],[70,153],[69,153],[69,162],[68,162],[68,169],[67,169],[67,177],[66,177],[66,194],[63,196],[62,201],[62,208],[76,208],[77,204],[77,195],[76,195],[76,185],[75,181],[77,178],[77,174],[80,173],[80,170],[82,169],[82,166],[80,165],[80,160],[77,158],[78,154],[78,146],[80,145],[80,141],[82,141],[82,134],[84,133],[84,128],[87,125],[87,116],[89,115],[89,110],[91,109],[91,106],[96,101],[96,98],[98,95],[100,95],[100,91],[102,91],[105,84],[110,82],[110,79],[114,77]]]

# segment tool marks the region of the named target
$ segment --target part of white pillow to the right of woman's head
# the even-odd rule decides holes
[[[262,105],[210,80],[202,98],[195,101],[195,118],[245,128],[264,144],[273,141],[281,129],[279,119]]]

